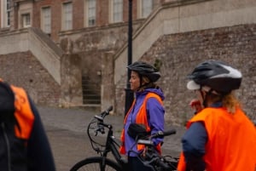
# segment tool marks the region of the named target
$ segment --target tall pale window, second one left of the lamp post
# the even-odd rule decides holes
[[[86,0],[87,17],[86,26],[95,26],[96,25],[96,0]]]

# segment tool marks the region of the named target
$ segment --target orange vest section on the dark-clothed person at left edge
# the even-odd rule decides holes
[[[4,83],[1,78],[0,82]],[[12,85],[7,84],[7,86],[9,86],[15,94],[15,119],[17,121],[17,125],[15,125],[15,136],[22,140],[28,140],[32,132],[34,115],[26,91],[23,88]]]

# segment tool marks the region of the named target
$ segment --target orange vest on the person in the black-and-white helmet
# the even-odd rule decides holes
[[[225,108],[206,108],[189,121],[187,128],[195,122],[204,123],[207,130],[207,171],[256,170],[256,130],[243,111],[230,114]],[[182,153],[177,170],[185,168]]]

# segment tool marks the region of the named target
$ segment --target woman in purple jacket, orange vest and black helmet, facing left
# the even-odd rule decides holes
[[[138,127],[143,125],[145,132],[154,134],[164,130],[165,109],[163,100],[165,99],[162,90],[156,85],[160,78],[160,72],[148,63],[137,61],[128,66],[131,70],[131,90],[135,93],[130,110],[125,115],[124,129],[121,134],[121,145],[119,151],[128,156],[131,171],[150,171],[139,161],[137,155],[145,149],[143,145],[136,145]],[[134,124],[136,123],[136,124]],[[160,152],[162,139],[154,139],[155,148]]]

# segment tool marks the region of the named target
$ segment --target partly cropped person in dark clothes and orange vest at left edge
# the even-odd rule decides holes
[[[55,171],[38,111],[23,88],[0,79],[0,170]]]

